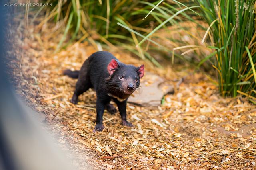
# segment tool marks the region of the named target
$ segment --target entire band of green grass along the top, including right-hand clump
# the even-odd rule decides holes
[[[68,33],[72,35],[68,43],[90,41],[95,48],[97,43],[118,46],[158,67],[161,64],[150,55],[150,50],[161,51],[171,54],[165,57],[172,63],[178,57],[194,68],[211,68],[216,72],[223,96],[240,93],[253,100],[256,96],[256,0],[53,0],[51,3],[50,12],[47,12],[49,7],[40,8],[35,17],[45,12],[48,20],[65,23],[56,51],[67,45]],[[202,27],[199,20],[209,27]],[[184,21],[196,23],[198,29],[206,31],[205,36],[195,37],[186,26],[181,26]],[[203,45],[157,34],[159,30],[174,31],[168,30],[173,25]],[[168,47],[162,41],[180,46]],[[201,49],[210,51],[210,55]],[[180,50],[183,51],[179,53]],[[190,59],[191,52],[196,59]]]

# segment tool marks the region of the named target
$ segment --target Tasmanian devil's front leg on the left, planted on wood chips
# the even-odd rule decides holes
[[[96,102],[97,117],[96,117],[96,126],[94,127],[96,131],[102,131],[104,129],[104,126],[102,124],[104,109],[105,109],[104,102],[99,98],[97,98],[97,102]]]

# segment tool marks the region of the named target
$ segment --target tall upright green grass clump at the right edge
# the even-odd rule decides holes
[[[216,47],[213,67],[223,96],[242,91],[256,96],[255,0],[196,0],[210,25],[208,44]],[[246,83],[243,83],[246,82]]]

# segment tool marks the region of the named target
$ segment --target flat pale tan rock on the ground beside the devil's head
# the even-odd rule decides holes
[[[166,94],[173,94],[174,87],[164,78],[147,73],[140,82],[140,89],[128,98],[128,102],[142,107],[157,107]]]

